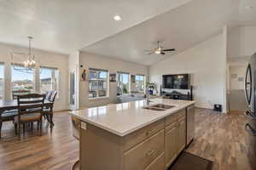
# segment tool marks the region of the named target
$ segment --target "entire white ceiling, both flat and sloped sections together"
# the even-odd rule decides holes
[[[123,20],[115,21],[113,16]],[[71,54],[82,50],[152,65],[217,35],[255,25],[255,0],[0,0],[0,42]],[[157,41],[177,52],[148,55]]]

